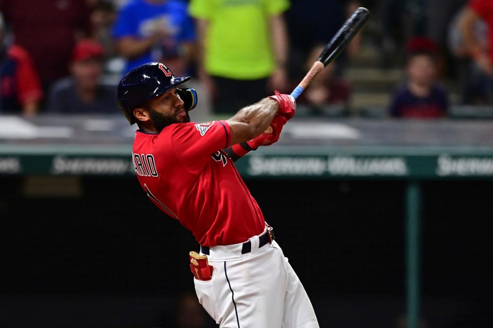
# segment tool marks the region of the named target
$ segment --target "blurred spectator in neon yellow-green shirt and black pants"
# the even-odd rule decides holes
[[[288,90],[288,0],[192,0],[198,74],[215,113],[234,113],[273,90]]]

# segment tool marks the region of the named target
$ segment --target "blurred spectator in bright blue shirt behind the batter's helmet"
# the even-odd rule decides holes
[[[150,61],[173,67],[175,75],[189,73],[194,29],[182,1],[130,0],[113,28],[118,52],[127,59],[124,73]]]

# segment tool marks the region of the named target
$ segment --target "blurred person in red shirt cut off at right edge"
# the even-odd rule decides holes
[[[475,33],[479,20],[483,20],[488,27],[487,45],[483,45]],[[484,87],[485,100],[493,104],[493,1],[469,0],[459,24],[465,47],[479,70],[480,74],[477,78],[481,80]]]

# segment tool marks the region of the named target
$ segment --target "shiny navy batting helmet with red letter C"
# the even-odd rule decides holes
[[[147,100],[160,96],[176,86],[191,79],[190,76],[176,77],[161,63],[147,63],[128,72],[118,84],[117,101],[130,125],[136,122],[133,111]],[[194,89],[177,88],[177,93],[184,101],[186,111],[197,106],[197,93]]]

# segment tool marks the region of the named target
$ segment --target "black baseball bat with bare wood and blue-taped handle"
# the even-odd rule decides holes
[[[312,67],[301,80],[299,85],[291,92],[291,96],[296,99],[298,96],[307,88],[312,79],[327,65],[331,63],[332,60],[337,58],[337,56],[346,49],[349,42],[353,37],[361,30],[363,25],[365,25],[368,17],[370,16],[370,11],[366,8],[357,8],[351,17],[349,17],[344,25],[337,31],[337,33],[332,37],[324,50],[320,53],[318,59],[313,63]],[[272,133],[272,128],[267,128],[266,133]]]

